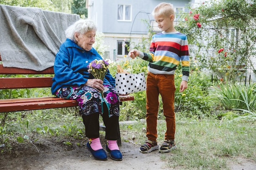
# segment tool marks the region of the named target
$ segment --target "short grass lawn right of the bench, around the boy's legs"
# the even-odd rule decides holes
[[[158,143],[164,140],[165,123],[158,123]],[[146,139],[146,124],[121,126],[124,140],[141,145]],[[256,122],[216,119],[176,119],[177,149],[168,161],[170,168],[186,170],[228,170],[227,163],[234,157],[256,162]]]

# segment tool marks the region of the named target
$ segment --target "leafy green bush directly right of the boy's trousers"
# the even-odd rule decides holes
[[[182,74],[177,69],[175,74],[175,110],[184,117],[203,118],[210,116],[214,103],[211,102],[209,87],[212,85],[211,77],[195,69],[189,75],[188,88],[179,92]]]

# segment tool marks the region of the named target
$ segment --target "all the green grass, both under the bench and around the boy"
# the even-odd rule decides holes
[[[0,126],[0,144],[4,152],[11,152],[11,144],[19,142],[31,145],[38,138],[65,141],[86,140],[81,117],[74,110],[62,114],[54,109],[21,113],[9,113],[5,126]],[[159,144],[164,140],[165,121],[157,125]],[[146,140],[145,120],[132,125],[121,125],[122,141],[132,141],[140,146]],[[101,132],[103,133],[103,132]],[[228,163],[235,157],[256,162],[256,122],[228,119],[187,119],[176,116],[175,141],[177,149],[162,154],[161,159],[173,169],[229,170]],[[3,150],[1,150],[3,152]],[[5,153],[6,154],[6,153]]]

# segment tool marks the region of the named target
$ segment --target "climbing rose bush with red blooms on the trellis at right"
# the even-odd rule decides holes
[[[192,69],[197,61],[227,81],[242,80],[246,68],[255,70],[256,0],[212,0],[189,9],[176,29],[188,37]]]

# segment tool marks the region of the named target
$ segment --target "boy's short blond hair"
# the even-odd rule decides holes
[[[170,16],[170,15],[173,15],[173,17],[175,18],[175,12],[174,12],[174,9],[173,9],[173,4],[170,4],[170,3],[165,3],[165,2],[162,2],[160,4],[158,4],[153,12],[152,12],[152,15],[155,16],[155,15],[165,15],[165,16]]]

